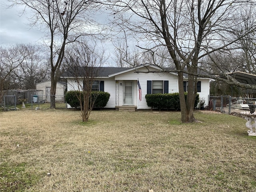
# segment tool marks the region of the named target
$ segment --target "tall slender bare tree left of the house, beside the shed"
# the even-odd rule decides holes
[[[33,13],[30,18],[32,26],[38,26],[42,32],[48,33],[44,43],[49,48],[51,68],[50,108],[55,108],[56,83],[65,47],[81,36],[100,34],[100,25],[92,19],[99,4],[90,0],[8,1],[12,6],[23,5],[29,9]]]

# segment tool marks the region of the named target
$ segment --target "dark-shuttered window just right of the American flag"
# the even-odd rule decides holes
[[[169,81],[147,81],[147,94],[168,93]]]

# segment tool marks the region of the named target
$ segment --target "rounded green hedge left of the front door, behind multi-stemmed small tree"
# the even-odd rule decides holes
[[[84,103],[83,92],[76,91],[68,91],[65,95],[65,100],[71,107],[78,108],[80,107],[80,101],[78,99],[79,94],[81,93],[82,104]],[[108,92],[103,91],[92,91],[92,100],[96,97],[93,108],[104,108],[108,100],[110,98],[110,94]]]

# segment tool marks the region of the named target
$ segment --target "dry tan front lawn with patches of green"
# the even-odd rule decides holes
[[[195,112],[25,110],[0,113],[0,190],[255,191],[245,120]]]

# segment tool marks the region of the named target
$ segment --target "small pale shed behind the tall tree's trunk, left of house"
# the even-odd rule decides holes
[[[57,82],[56,94],[55,94],[56,102],[64,102],[64,95],[65,95],[66,88],[67,88],[66,82]],[[50,80],[36,83],[36,89],[43,91],[42,100],[45,100],[47,103],[50,102],[50,90],[51,90]]]

